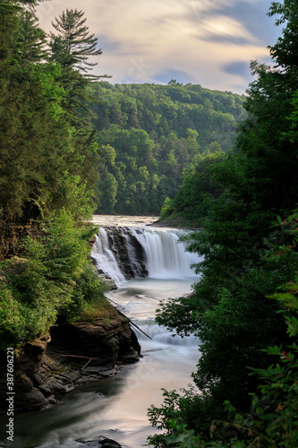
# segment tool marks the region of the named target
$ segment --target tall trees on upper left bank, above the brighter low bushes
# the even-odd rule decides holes
[[[94,207],[99,164],[83,106],[89,82],[72,66],[65,73],[46,49],[34,10],[22,3],[28,2],[6,2],[1,15],[0,222],[26,222],[63,207],[85,219]],[[93,46],[92,39],[84,34]],[[78,57],[88,64],[88,55]]]

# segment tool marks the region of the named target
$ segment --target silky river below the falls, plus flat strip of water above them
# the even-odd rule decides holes
[[[96,223],[100,220],[101,217],[94,219]],[[107,226],[123,224],[119,217],[112,217],[112,223],[108,217],[105,220],[103,223]],[[152,220],[138,217],[132,222],[127,218],[124,225],[140,227]],[[171,230],[148,228],[148,231],[152,232],[149,237],[153,238],[156,235],[160,237],[156,232]],[[100,435],[104,435],[122,444],[123,448],[140,448],[146,444],[148,435],[158,432],[149,425],[147,409],[162,402],[161,388],[173,390],[192,383],[191,373],[200,356],[198,340],[173,337],[154,321],[160,300],[189,293],[192,284],[199,280],[191,270],[187,269],[185,275],[184,267],[181,266],[181,275],[177,275],[177,271],[172,272],[171,266],[167,271],[154,271],[152,268],[153,275],[149,272],[148,278],[123,281],[118,289],[107,294],[152,338],[149,340],[140,333],[140,362],[123,366],[113,378],[82,386],[64,395],[62,404],[18,416],[14,422],[13,446],[78,448],[84,446],[82,441],[98,440]]]

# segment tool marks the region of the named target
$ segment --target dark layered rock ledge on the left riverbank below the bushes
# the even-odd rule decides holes
[[[0,367],[0,409],[6,412],[6,354]],[[55,404],[83,383],[115,375],[122,363],[139,360],[140,344],[129,319],[115,310],[110,319],[51,328],[50,333],[15,350],[14,410]]]

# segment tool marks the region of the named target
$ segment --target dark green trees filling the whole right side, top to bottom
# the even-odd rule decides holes
[[[189,249],[203,255],[191,297],[160,306],[158,323],[200,339],[194,385],[165,391],[149,419],[154,446],[298,444],[298,5],[274,2],[283,24],[273,66],[256,81],[234,151],[200,159],[163,207],[192,218]]]

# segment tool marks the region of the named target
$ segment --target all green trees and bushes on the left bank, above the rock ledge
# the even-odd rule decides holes
[[[89,56],[101,50],[81,11],[66,10],[47,36],[37,3],[0,1],[0,349],[109,309],[85,223],[99,167]]]

